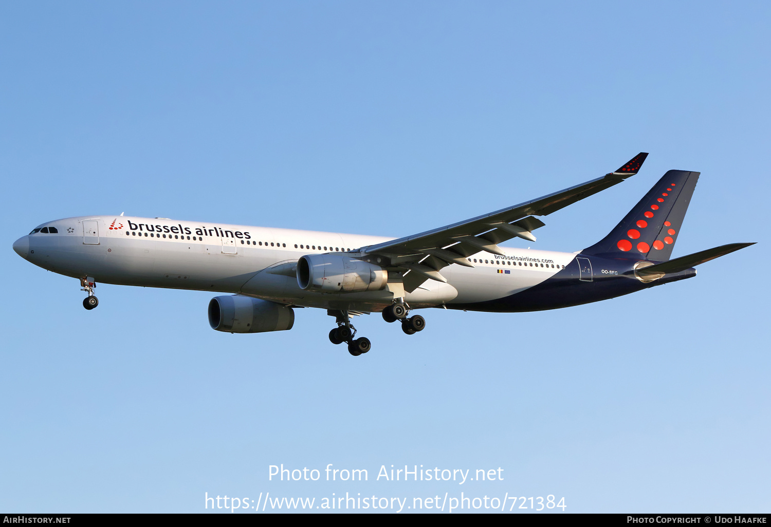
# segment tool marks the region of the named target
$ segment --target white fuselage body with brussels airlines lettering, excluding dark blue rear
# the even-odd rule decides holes
[[[297,279],[271,268],[305,254],[352,251],[387,237],[197,223],[138,217],[74,217],[42,224],[57,233],[32,233],[27,260],[70,277],[97,283],[245,294],[282,304],[326,309],[382,310],[389,288],[329,294],[302,290]],[[21,240],[17,242],[22,246]],[[15,248],[17,246],[15,245]],[[407,293],[415,308],[474,304],[507,297],[557,273],[575,253],[502,247],[505,257],[473,254],[474,268],[442,270],[447,283],[427,280]]]

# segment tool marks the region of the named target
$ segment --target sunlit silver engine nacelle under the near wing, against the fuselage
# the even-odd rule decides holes
[[[379,291],[388,285],[388,271],[340,253],[306,254],[297,263],[297,284],[325,293]]]

